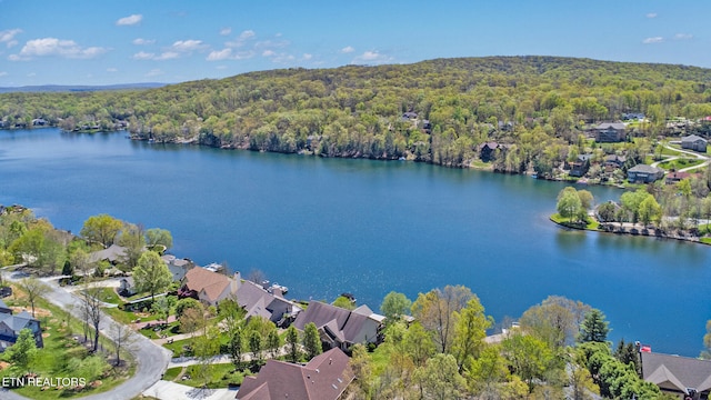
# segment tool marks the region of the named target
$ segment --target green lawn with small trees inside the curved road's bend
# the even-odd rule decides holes
[[[13,288],[13,291],[14,294],[11,298],[4,299],[6,303],[10,307],[28,307],[24,293],[18,290],[17,287]],[[113,344],[103,337],[100,338],[100,346],[106,349],[106,353],[101,350],[97,353],[102,361],[94,367],[90,367],[88,359],[91,353],[80,342],[83,339],[83,334],[80,334],[83,331],[81,321],[68,317],[66,311],[60,310],[44,299],[36,302],[36,309],[37,317],[41,320],[43,327],[44,347],[38,349],[37,357],[31,364],[31,371],[41,378],[87,377],[92,380],[87,381],[87,388],[81,391],[74,391],[71,388],[41,390],[40,387],[28,386],[16,389],[19,394],[31,399],[83,397],[114,388],[136,372],[133,362],[130,361],[130,354],[128,353],[122,354],[123,360],[129,360],[128,364],[122,367],[112,366]],[[18,372],[7,368],[0,371],[0,377],[18,377]],[[90,386],[91,382],[94,382],[93,386],[96,388]]]

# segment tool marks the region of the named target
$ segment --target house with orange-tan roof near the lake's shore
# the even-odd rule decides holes
[[[213,272],[204,268],[193,268],[186,273],[179,297],[192,297],[208,306],[217,306],[220,301],[234,298],[239,286],[239,274],[233,278]]]

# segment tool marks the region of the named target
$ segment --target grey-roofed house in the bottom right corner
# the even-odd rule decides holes
[[[711,361],[641,351],[642,379],[684,399],[708,399]]]

